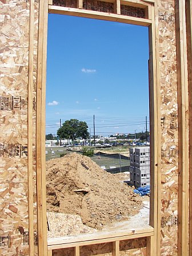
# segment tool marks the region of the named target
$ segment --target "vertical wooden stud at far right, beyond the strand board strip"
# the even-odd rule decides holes
[[[188,202],[189,202],[189,132],[187,90],[187,45],[185,1],[175,1],[177,79],[178,79],[178,143],[179,143],[179,187],[178,187],[178,255],[188,251]]]

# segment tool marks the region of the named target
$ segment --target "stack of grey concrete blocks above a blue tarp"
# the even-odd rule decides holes
[[[135,187],[150,185],[150,147],[130,147],[130,182]]]

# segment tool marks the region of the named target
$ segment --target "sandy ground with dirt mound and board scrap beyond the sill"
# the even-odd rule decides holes
[[[123,182],[126,173],[107,173],[77,153],[51,159],[46,168],[49,237],[127,229],[134,219],[141,226],[137,214],[149,223],[149,205],[143,207],[149,197],[141,198]]]

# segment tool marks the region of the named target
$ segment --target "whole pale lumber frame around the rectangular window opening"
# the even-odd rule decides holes
[[[80,0],[81,1],[81,0]],[[79,6],[81,2],[79,1]],[[120,8],[121,1],[117,0]],[[125,2],[125,1],[123,1]],[[66,247],[74,247],[74,255],[79,255],[79,246],[102,242],[113,242],[113,255],[118,255],[118,244],[121,240],[146,237],[147,254],[153,255],[154,249],[160,248],[160,200],[159,177],[161,168],[161,125],[160,125],[160,94],[158,70],[158,32],[155,30],[155,6],[154,1],[142,2],[129,0],[134,6],[142,3],[147,9],[147,18],[135,18],[116,14],[98,13],[97,11],[72,9],[69,7],[52,6],[51,1],[40,0],[39,2],[39,30],[38,30],[38,65],[37,65],[37,122],[36,122],[36,156],[37,156],[37,210],[38,210],[38,253],[39,255],[51,255],[51,250]],[[141,5],[140,5],[141,6]],[[105,234],[91,234],[86,239],[48,239],[47,245],[47,223],[46,223],[46,167],[45,167],[45,95],[46,95],[46,56],[47,56],[47,19],[48,13],[73,15],[84,18],[102,19],[106,21],[122,22],[133,25],[149,27],[149,93],[150,93],[150,226],[147,229],[117,230],[117,232]],[[158,244],[157,244],[158,243]]]

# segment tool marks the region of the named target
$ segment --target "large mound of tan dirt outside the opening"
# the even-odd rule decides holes
[[[91,158],[71,153],[46,163],[47,211],[77,214],[94,229],[126,221],[142,207],[139,195]]]

